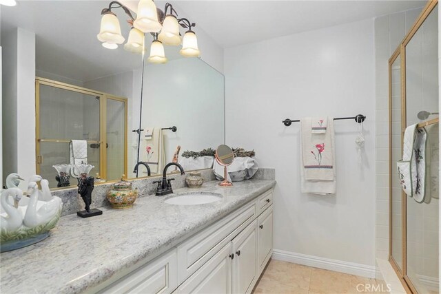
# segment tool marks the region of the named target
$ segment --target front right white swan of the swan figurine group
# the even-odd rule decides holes
[[[61,208],[63,207],[63,202],[59,197],[51,197],[51,200],[39,203],[37,207],[37,202],[39,198],[39,189],[37,182],[30,182],[28,185],[28,194],[30,195],[30,200],[28,207],[26,209],[23,224],[26,227],[37,227],[42,224],[48,224],[55,220],[55,224],[58,222],[61,215]]]

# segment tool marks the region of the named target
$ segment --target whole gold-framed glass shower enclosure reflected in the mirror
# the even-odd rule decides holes
[[[37,174],[57,187],[53,165],[70,163],[70,140],[87,142],[91,176],[127,175],[127,98],[36,78]],[[70,180],[76,185],[76,180]]]

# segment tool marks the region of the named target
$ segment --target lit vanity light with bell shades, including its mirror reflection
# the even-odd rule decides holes
[[[145,33],[150,33],[153,36],[153,42],[150,46],[150,57],[147,60],[151,63],[167,62],[167,58],[164,54],[164,45],[176,46],[182,43],[182,49],[179,51],[182,56],[198,57],[201,55],[196,33],[192,30],[192,28],[196,26],[196,23],[192,23],[185,18],[178,19],[178,13],[174,10],[172,4],[166,3],[163,12],[163,10],[156,8],[152,0],[139,1],[136,18],[133,17],[130,10],[123,6],[123,4],[118,1],[110,2],[109,7],[101,11],[101,29],[97,35],[99,41],[103,42],[102,45],[104,48],[116,49],[118,48],[117,44],[121,44],[125,41],[121,34],[118,18],[116,14],[112,12],[112,9],[116,8],[123,8],[125,14],[130,17],[127,23],[132,25],[127,43],[124,45],[125,50],[132,53],[143,54]],[[167,13],[169,9],[170,12]],[[187,29],[183,39],[179,32],[179,25]]]

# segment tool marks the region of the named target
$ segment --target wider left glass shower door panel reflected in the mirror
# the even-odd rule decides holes
[[[70,140],[87,141],[90,175],[100,172],[100,100],[93,92],[37,81],[37,174],[57,187],[53,165],[70,163]],[[70,185],[76,180],[70,178]]]

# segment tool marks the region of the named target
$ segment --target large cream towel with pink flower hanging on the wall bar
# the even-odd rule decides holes
[[[300,119],[305,180],[334,180],[334,120],[327,119],[328,132],[314,134],[311,132],[313,119]]]

